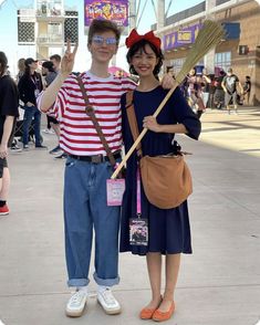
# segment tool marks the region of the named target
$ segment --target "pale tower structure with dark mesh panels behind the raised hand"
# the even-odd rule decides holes
[[[66,40],[79,38],[79,13],[64,8],[63,0],[35,0],[34,8],[18,10],[18,44],[35,45],[35,57],[62,54]]]

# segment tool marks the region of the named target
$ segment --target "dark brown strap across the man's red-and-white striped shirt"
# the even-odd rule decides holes
[[[110,158],[111,165],[112,166],[115,166],[116,165],[115,158],[114,158],[114,156],[113,156],[113,154],[111,151],[111,148],[108,147],[108,144],[107,144],[106,139],[105,139],[105,136],[104,136],[104,134],[102,132],[102,128],[101,128],[101,126],[100,126],[100,124],[98,124],[98,122],[96,119],[94,107],[90,104],[90,101],[89,101],[89,97],[87,97],[87,94],[86,94],[86,91],[85,91],[85,87],[84,87],[84,84],[82,82],[81,76],[77,75],[76,76],[76,80],[77,80],[77,83],[79,83],[79,85],[81,87],[81,92],[83,94],[83,98],[85,101],[85,105],[86,105],[85,106],[85,112],[86,112],[86,115],[89,115],[91,117],[91,119],[92,119],[92,122],[94,124],[94,127],[96,129],[96,133],[100,136],[101,141],[102,141],[102,144],[103,144],[103,146],[104,146],[104,148],[106,150],[106,154],[107,154],[107,156]]]

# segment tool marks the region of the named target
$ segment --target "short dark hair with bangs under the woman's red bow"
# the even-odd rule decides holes
[[[162,53],[162,50],[156,48],[154,44],[152,44],[150,42],[146,41],[146,40],[141,40],[139,42],[135,43],[127,52],[126,54],[126,60],[127,62],[131,64],[131,60],[132,57],[135,55],[136,52],[138,52],[139,50],[147,54],[145,51],[145,45],[148,44],[150,46],[150,49],[153,50],[153,52],[155,53],[156,57],[159,59],[158,63],[156,64],[153,73],[154,76],[158,78],[158,73],[160,71],[160,67],[163,65],[163,60],[164,60],[164,54]],[[134,66],[131,64],[129,66],[129,72],[132,74],[138,75],[138,73],[134,70]]]

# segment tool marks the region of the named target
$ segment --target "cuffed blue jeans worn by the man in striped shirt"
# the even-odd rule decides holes
[[[93,229],[98,285],[118,284],[119,207],[106,205],[110,162],[92,164],[67,157],[64,179],[65,254],[69,286],[87,285]]]

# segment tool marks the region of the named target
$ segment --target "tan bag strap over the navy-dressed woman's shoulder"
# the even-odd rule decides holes
[[[139,136],[139,130],[138,130],[138,125],[137,125],[137,120],[136,120],[133,97],[134,97],[134,91],[126,93],[125,108],[126,108],[126,114],[127,114],[127,118],[128,118],[128,123],[129,123],[129,127],[131,127],[131,133],[132,133],[133,139],[135,141],[137,139],[137,137]],[[141,143],[137,145],[136,151],[137,151],[138,157],[143,157]]]

